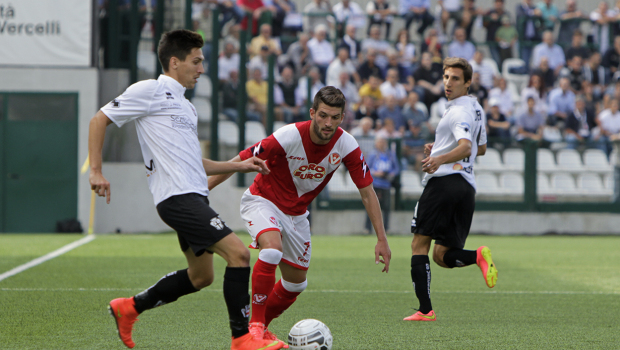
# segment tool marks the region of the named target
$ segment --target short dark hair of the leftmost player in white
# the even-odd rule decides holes
[[[196,32],[187,29],[172,30],[161,35],[157,57],[164,72],[167,72],[172,57],[185,61],[193,49],[201,48],[203,45],[202,36]]]

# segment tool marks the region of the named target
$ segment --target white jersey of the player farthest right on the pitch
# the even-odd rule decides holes
[[[431,157],[446,154],[458,146],[458,141],[471,141],[471,156],[454,163],[439,166],[433,174],[424,175],[422,185],[435,176],[461,174],[476,189],[474,178],[474,160],[478,154],[478,146],[487,143],[486,115],[476,97],[461,96],[446,103],[446,111],[437,125],[435,143]]]

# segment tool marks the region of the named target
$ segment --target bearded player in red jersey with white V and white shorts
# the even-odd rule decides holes
[[[252,319],[255,337],[274,340],[267,326],[306,289],[312,244],[307,206],[325,188],[339,166],[347,167],[377,233],[375,262],[388,272],[391,252],[372,176],[357,141],[339,125],[345,97],[326,86],[314,97],[310,119],[289,124],[242,151],[232,162],[253,155],[264,159],[269,175],[258,174],[241,198],[241,217],[260,249],[252,272]],[[230,175],[209,177],[213,189]],[[380,258],[382,257],[382,259]],[[282,278],[276,283],[276,268]]]

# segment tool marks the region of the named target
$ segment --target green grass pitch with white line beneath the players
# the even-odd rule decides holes
[[[240,234],[249,243],[247,234]],[[0,235],[0,273],[80,237]],[[410,236],[391,236],[392,264],[374,264],[375,238],[316,236],[308,289],[270,329],[285,338],[304,318],[327,324],[334,350],[618,349],[620,237],[471,236],[499,269],[489,289],[476,266],[432,264],[437,322],[404,322],[417,301]],[[252,252],[252,263],[257,252]],[[103,235],[0,281],[0,349],[124,349],[106,306],[184,268],[176,235]],[[230,349],[224,262],[207,289],[145,312],[135,349]]]

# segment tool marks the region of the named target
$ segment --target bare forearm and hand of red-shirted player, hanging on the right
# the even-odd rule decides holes
[[[383,217],[381,216],[381,205],[377,199],[377,194],[372,184],[360,188],[360,195],[362,196],[362,203],[366,208],[370,222],[377,233],[377,245],[375,246],[375,263],[379,262],[385,264],[381,272],[388,272],[390,270],[390,259],[392,258],[392,251],[387,241],[387,235],[385,234],[385,228],[383,226]],[[381,258],[380,258],[381,257]]]

